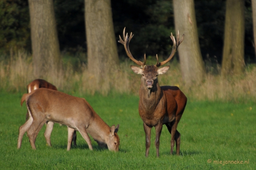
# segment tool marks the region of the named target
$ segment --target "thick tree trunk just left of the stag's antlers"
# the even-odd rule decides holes
[[[110,72],[119,64],[110,0],[85,0],[88,70],[99,91],[110,89]]]

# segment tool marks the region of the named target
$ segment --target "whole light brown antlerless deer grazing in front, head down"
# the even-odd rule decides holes
[[[84,98],[40,88],[24,94],[21,98],[21,105],[25,100],[30,117],[25,124],[20,126],[18,149],[26,131],[32,148],[36,149],[36,136],[44,123],[51,121],[68,126],[68,151],[76,130],[81,133],[91,150],[92,142],[88,133],[101,147],[108,147],[110,151],[118,151],[119,124],[110,128]]]

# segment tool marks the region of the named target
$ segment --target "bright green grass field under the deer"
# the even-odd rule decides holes
[[[0,93],[0,169],[256,169],[255,103],[188,99],[178,125],[180,156],[170,155],[171,135],[164,126],[160,157],[156,158],[153,128],[149,156],[145,158],[138,96],[82,96],[108,125],[120,124],[117,153],[101,149],[93,140],[94,150],[90,151],[79,132],[77,147],[68,152],[67,127],[59,124],[55,124],[52,131],[52,147],[46,146],[44,126],[37,136],[36,150],[32,150],[26,134],[18,150],[19,127],[25,123],[27,112],[25,104],[20,106],[21,96]]]

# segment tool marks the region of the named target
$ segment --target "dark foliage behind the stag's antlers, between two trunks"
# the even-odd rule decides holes
[[[122,36],[123,29],[134,34],[130,50],[135,58],[146,55],[167,56],[171,53],[173,25],[172,1],[125,1],[112,0],[113,21],[116,32]],[[125,54],[118,44],[120,55]]]

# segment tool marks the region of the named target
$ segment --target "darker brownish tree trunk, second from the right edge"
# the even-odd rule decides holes
[[[221,74],[244,71],[244,0],[227,0]]]

